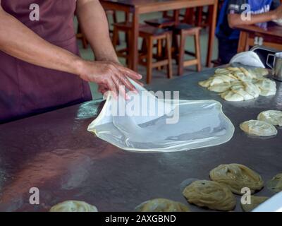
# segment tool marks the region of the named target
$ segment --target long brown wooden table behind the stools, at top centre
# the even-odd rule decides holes
[[[212,11],[212,20],[209,29],[209,44],[207,53],[207,66],[211,66],[212,52],[214,47],[214,33],[216,29],[216,14],[218,0],[101,0],[105,9],[133,13],[133,41],[131,42],[130,57],[133,59],[130,69],[137,71],[138,64],[138,36],[139,18],[141,14],[159,11],[178,10],[181,8],[194,8],[198,6],[209,6]],[[178,21],[177,15],[175,19]]]

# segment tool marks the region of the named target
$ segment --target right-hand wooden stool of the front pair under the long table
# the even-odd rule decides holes
[[[192,27],[187,23],[180,23],[176,25],[173,30],[173,46],[174,56],[178,62],[178,75],[183,75],[183,69],[185,66],[197,65],[197,71],[202,70],[201,66],[201,52],[200,52],[200,27]],[[180,35],[180,43],[178,44],[178,35]],[[185,50],[185,42],[188,36],[194,36],[195,40],[195,53],[191,53]],[[178,49],[178,51],[176,51]],[[178,54],[176,53],[178,52]],[[192,55],[195,59],[184,60],[185,54]]]

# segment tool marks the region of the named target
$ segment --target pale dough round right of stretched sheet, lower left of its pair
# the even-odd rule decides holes
[[[240,124],[240,129],[253,136],[275,136],[277,134],[277,129],[273,125],[259,120],[244,121]]]

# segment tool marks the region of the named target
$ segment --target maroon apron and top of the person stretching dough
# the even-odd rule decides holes
[[[31,4],[39,5],[39,20],[30,20]],[[1,0],[1,6],[47,42],[79,54],[75,0]],[[0,65],[0,123],[92,99],[88,83],[73,74],[28,64],[1,51]]]

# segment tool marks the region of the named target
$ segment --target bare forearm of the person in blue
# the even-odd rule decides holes
[[[228,24],[231,28],[239,25],[253,25],[256,23],[264,23],[275,19],[274,11],[268,13],[251,15],[250,20],[243,20],[240,14],[228,14]]]

